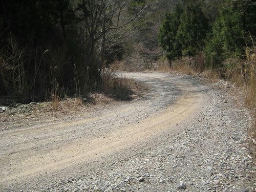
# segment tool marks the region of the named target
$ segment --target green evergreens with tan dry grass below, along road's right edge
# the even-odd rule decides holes
[[[219,1],[214,17],[205,2],[177,4],[166,13],[159,31],[164,58],[160,68],[230,81],[243,92],[245,105],[256,109],[256,5],[252,1]],[[218,4],[217,4],[218,5]],[[256,138],[255,119],[251,137]],[[253,140],[255,142],[255,140]],[[254,143],[255,144],[255,143]]]

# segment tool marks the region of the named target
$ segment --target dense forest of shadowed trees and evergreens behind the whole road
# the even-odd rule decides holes
[[[250,66],[255,73],[255,20],[252,0],[3,0],[0,95],[84,96],[101,89],[102,69],[116,61],[145,70],[187,57],[200,71],[246,76]]]

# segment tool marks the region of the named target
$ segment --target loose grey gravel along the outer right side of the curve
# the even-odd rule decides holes
[[[140,74],[130,75],[145,81],[138,78]],[[223,89],[202,84],[198,78],[182,78],[200,86],[208,100],[184,126],[177,124],[176,131],[142,140],[128,151],[81,164],[82,172],[69,179],[49,179],[24,191],[255,191],[256,166],[247,153],[249,112],[234,104]],[[155,101],[158,108],[146,114],[169,102]]]

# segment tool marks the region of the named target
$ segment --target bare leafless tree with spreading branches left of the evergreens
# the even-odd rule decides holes
[[[116,33],[120,29],[134,22],[143,12],[148,4],[145,4],[140,11],[127,17],[127,6],[131,0],[82,0],[80,8],[83,13],[83,20],[86,30],[90,36],[90,57],[95,56],[96,46],[99,45],[101,64],[105,60],[106,37],[108,34]],[[123,37],[119,35],[109,35],[108,44],[113,44]],[[108,46],[108,48],[110,45]]]

